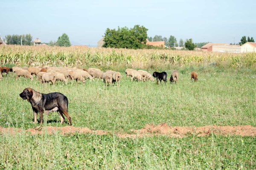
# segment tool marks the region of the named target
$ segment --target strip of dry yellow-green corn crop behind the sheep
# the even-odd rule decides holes
[[[0,65],[84,66],[126,65],[146,68],[152,63],[172,65],[217,65],[227,68],[255,67],[256,53],[173,51],[168,49],[115,49],[85,47],[39,47],[2,45]]]

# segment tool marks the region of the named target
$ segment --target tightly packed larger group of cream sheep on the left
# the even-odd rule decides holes
[[[86,82],[87,79],[94,81],[95,79],[103,79],[105,85],[112,84],[113,82],[120,83],[121,74],[116,71],[107,70],[105,73],[98,68],[69,68],[69,67],[0,67],[1,73],[8,74],[9,72],[15,72],[16,80],[20,77],[34,79],[33,75],[37,76],[37,81],[52,82],[52,85],[55,86],[57,80],[64,82],[67,85],[68,80],[71,80],[73,85],[74,79],[76,82]],[[0,80],[2,80],[2,74],[0,74]],[[37,82],[36,81],[36,82]]]

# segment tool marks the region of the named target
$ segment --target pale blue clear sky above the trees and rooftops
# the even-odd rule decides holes
[[[0,35],[31,34],[33,40],[97,45],[107,28],[148,28],[148,37],[179,42],[256,40],[256,0],[0,0]],[[234,39],[235,38],[235,39]]]

